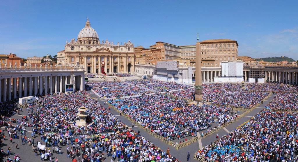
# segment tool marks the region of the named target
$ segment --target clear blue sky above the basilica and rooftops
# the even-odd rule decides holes
[[[194,45],[237,40],[239,55],[298,59],[298,1],[1,1],[0,53],[56,55],[89,17],[100,40]]]

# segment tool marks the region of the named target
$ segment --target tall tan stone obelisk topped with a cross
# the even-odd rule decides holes
[[[198,33],[197,33],[198,34]],[[195,101],[200,102],[203,98],[202,69],[201,69],[201,44],[199,34],[195,44]]]

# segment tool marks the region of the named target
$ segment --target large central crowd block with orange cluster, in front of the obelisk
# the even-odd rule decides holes
[[[229,107],[198,106],[162,94],[111,99],[108,102],[142,126],[169,140],[190,139],[196,136],[197,131],[207,132],[215,128],[212,124],[216,119],[220,126],[236,117],[230,114],[232,110]]]

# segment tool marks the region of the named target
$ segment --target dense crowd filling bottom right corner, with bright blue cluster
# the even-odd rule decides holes
[[[195,156],[219,162],[297,161],[297,119],[297,113],[263,110]]]

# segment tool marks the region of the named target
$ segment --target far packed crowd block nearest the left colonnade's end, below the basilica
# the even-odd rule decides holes
[[[128,85],[124,82],[88,82],[86,85],[92,87],[100,98],[134,96],[150,93],[149,90]]]

